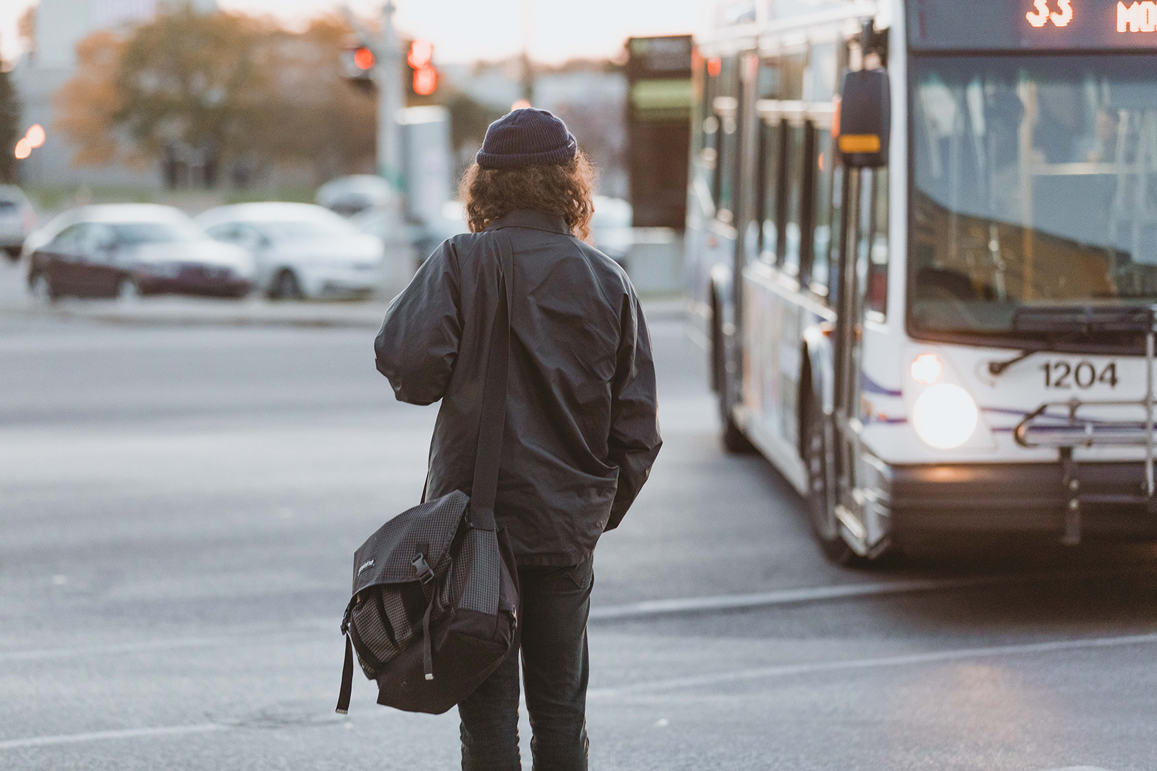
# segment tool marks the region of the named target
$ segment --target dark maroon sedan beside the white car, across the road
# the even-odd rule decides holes
[[[87,206],[29,258],[44,299],[182,294],[244,297],[256,273],[245,250],[221,244],[169,206]]]

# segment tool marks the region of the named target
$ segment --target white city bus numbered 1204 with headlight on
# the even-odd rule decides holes
[[[688,329],[824,553],[1157,536],[1157,3],[728,0]]]

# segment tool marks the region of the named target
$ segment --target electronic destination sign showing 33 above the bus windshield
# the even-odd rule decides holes
[[[1157,49],[1154,0],[908,0],[908,39],[931,51]]]

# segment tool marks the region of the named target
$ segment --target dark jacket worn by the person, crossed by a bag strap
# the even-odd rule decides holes
[[[422,264],[385,313],[377,369],[401,401],[442,400],[427,498],[469,494],[499,230],[514,247],[515,283],[495,514],[519,564],[573,565],[622,520],[662,444],[650,335],[622,268],[561,217],[513,212]]]

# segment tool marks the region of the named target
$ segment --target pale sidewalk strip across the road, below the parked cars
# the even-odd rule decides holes
[[[106,324],[149,326],[297,326],[376,329],[389,302],[271,302],[261,297],[216,299],[202,297],[142,297],[132,302],[66,298],[38,303],[24,287],[23,273],[5,262],[0,267],[0,314],[27,318],[87,319]],[[648,318],[679,318],[683,299],[644,298]]]

